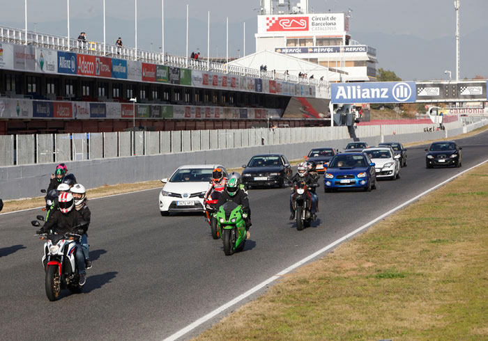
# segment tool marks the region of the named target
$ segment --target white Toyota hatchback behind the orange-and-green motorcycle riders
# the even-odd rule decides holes
[[[204,194],[212,179],[215,168],[221,168],[224,177],[227,170],[220,165],[181,166],[167,178],[162,179],[165,187],[159,193],[159,209],[162,216],[171,212],[205,212]]]

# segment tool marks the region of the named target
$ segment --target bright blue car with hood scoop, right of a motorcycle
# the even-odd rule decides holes
[[[323,175],[323,191],[376,189],[374,163],[363,152],[336,154]]]

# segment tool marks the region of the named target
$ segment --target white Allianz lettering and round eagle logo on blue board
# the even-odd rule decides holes
[[[409,100],[412,95],[412,88],[409,84],[398,83],[391,89],[388,87],[363,88],[360,85],[338,86],[335,98],[337,100],[391,100],[395,98],[398,102]]]

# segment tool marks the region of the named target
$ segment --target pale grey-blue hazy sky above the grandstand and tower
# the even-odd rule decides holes
[[[292,0],[293,1],[293,0]],[[68,0],[27,0],[29,30],[66,35]],[[243,23],[246,23],[246,54],[254,52],[254,33],[257,31],[259,0],[165,0],[165,51],[185,54],[186,5],[190,8],[190,50],[199,49],[206,54],[206,21],[211,13],[211,56],[224,56],[226,50],[225,20],[229,17],[229,55],[243,53]],[[310,0],[315,13],[345,12],[351,9],[349,31],[353,40],[378,49],[378,68],[388,68],[402,78],[433,79],[430,67],[415,68],[419,63],[439,63],[445,59],[445,68],[455,70],[456,17],[453,0]],[[102,41],[102,0],[70,0],[70,30],[76,38],[86,31],[89,40]],[[157,51],[161,45],[162,0],[137,1],[137,45]],[[24,27],[24,1],[0,0],[0,25]],[[123,37],[125,46],[135,45],[135,0],[105,0],[107,16],[107,42]],[[462,77],[483,74],[482,58],[471,58],[477,48],[484,48],[488,32],[488,0],[461,0],[461,65]],[[34,25],[34,23],[36,23]],[[385,37],[385,35],[388,35]],[[477,35],[480,35],[479,38]],[[395,39],[395,37],[397,39]],[[360,38],[360,39],[359,39]],[[402,51],[404,38],[418,40],[418,52],[425,56],[395,58]],[[364,41],[365,40],[365,41]],[[151,42],[153,43],[151,45]],[[386,44],[388,42],[388,44]],[[397,46],[395,46],[397,42]],[[464,43],[464,45],[463,45]],[[442,56],[432,46],[444,45]],[[478,45],[477,45],[478,44]],[[432,46],[431,46],[432,45]],[[445,45],[452,45],[445,46]],[[382,49],[384,49],[382,58]],[[479,49],[478,49],[479,51]],[[486,55],[486,54],[485,54]],[[428,65],[427,65],[428,66]],[[442,65],[444,68],[444,64]],[[479,72],[475,72],[479,68]],[[417,70],[417,71],[415,71]],[[463,72],[464,71],[464,72]],[[434,71],[433,71],[434,72]],[[465,73],[465,74],[464,74]],[[485,72],[485,77],[488,71]]]

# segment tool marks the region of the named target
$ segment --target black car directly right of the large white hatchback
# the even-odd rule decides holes
[[[282,154],[254,155],[243,165],[241,180],[247,188],[257,186],[285,187],[291,176],[291,166]]]

